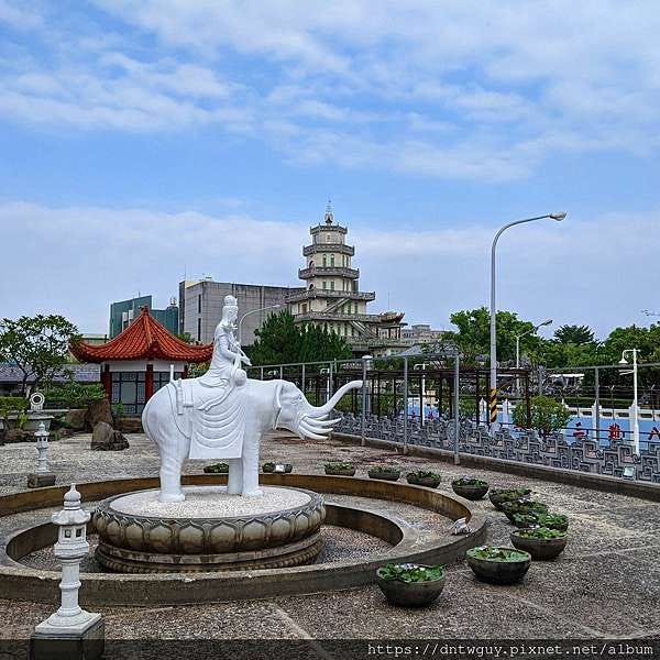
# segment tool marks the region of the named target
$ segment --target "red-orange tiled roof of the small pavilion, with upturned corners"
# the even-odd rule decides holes
[[[81,362],[117,360],[165,360],[169,362],[206,362],[213,354],[213,344],[193,345],[175,337],[148,314],[142,314],[120,334],[105,344],[84,341],[70,345]]]

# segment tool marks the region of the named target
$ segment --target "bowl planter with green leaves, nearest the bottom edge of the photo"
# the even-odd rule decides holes
[[[444,588],[444,566],[388,563],[376,571],[381,591],[393,605],[425,607]]]

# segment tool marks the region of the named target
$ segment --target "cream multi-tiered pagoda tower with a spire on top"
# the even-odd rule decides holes
[[[353,267],[355,248],[346,244],[348,229],[334,222],[328,204],[323,223],[311,227],[311,244],[302,248],[305,267],[298,277],[305,289],[289,295],[289,311],[300,323],[322,323],[342,336],[355,354],[386,354],[405,346],[404,312],[369,314],[374,292],[361,292],[360,270]]]

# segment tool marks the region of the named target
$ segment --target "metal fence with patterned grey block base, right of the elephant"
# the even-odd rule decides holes
[[[659,367],[639,365],[646,375],[637,410],[632,384],[614,377],[619,365],[498,370],[496,425],[488,425],[488,370],[463,367],[455,355],[277,364],[252,367],[250,375],[292,381],[315,405],[344,383],[363,380],[361,391],[339,403],[336,427],[363,443],[375,438],[400,443],[404,451],[411,444],[450,450],[457,462],[460,453],[470,453],[660,483],[660,385],[657,399],[653,386],[656,376],[660,383]],[[529,428],[536,394],[564,402],[571,413],[566,428],[547,437]],[[517,406],[524,407],[522,428],[513,424]],[[632,444],[635,414],[639,453]]]

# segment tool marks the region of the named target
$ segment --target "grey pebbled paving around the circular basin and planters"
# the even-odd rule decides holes
[[[155,448],[141,435],[130,436],[123,452],[91,452],[89,436],[51,446],[58,483],[156,476]],[[420,468],[442,473],[440,488],[451,480],[479,476],[492,486],[532,488],[534,496],[571,519],[571,541],[554,562],[536,562],[524,582],[492,586],[477,582],[464,564],[449,566],[447,586],[430,608],[402,610],[389,606],[376,586],[283,597],[270,602],[219,603],[206,606],[116,608],[108,610],[110,638],[570,638],[658,636],[660,631],[660,506],[617,494],[457,468],[419,457],[338,441],[301,441],[274,433],[262,448],[262,461],[286,459],[297,472],[322,473],[332,460],[352,461],[359,476],[377,463],[404,470]],[[34,446],[0,447],[0,492],[24,490],[25,473],[36,461]],[[204,461],[189,461],[187,473],[199,473]],[[339,502],[339,496],[329,496]],[[363,498],[361,498],[363,499]],[[372,501],[372,508],[395,503]],[[476,507],[488,516],[490,542],[508,542],[513,527],[487,499]],[[399,515],[402,509],[398,509]],[[40,512],[44,516],[46,512]],[[410,522],[431,530],[428,512],[406,512]],[[44,516],[45,517],[45,516]],[[23,524],[30,514],[12,516]],[[7,529],[0,520],[0,529]],[[441,531],[438,529],[438,531]],[[444,530],[447,532],[447,530]],[[0,592],[1,593],[1,592]],[[25,636],[52,612],[50,606],[0,601],[3,636]]]

